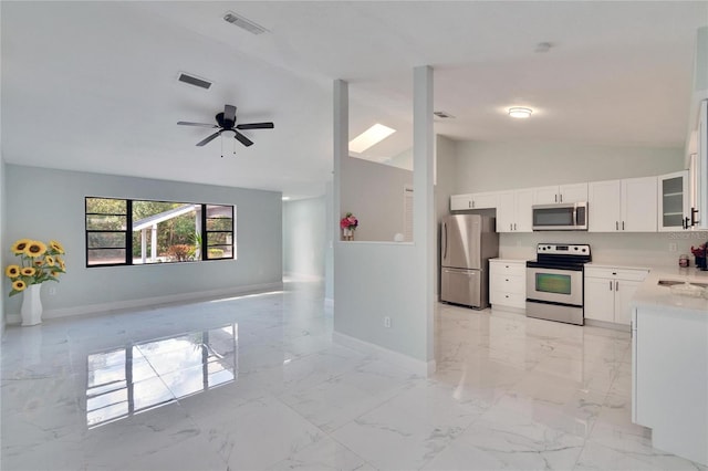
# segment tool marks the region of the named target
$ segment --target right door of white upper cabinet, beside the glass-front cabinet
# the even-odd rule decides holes
[[[622,227],[627,232],[656,232],[656,177],[622,180]]]

